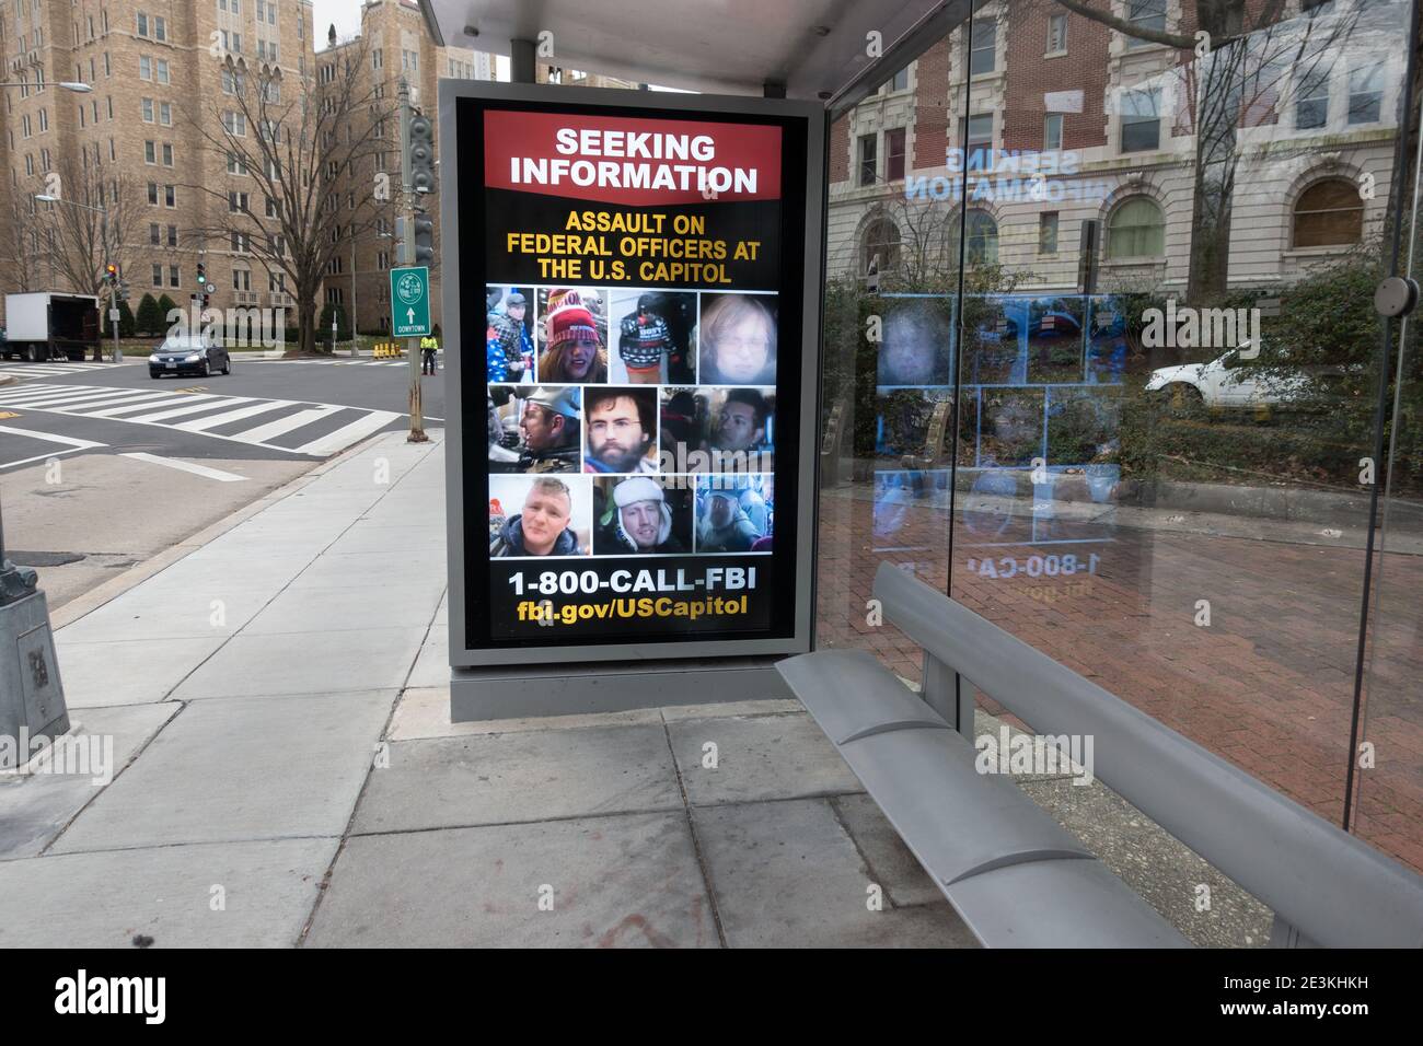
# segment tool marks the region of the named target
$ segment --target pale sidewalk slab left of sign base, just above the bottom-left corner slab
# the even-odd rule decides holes
[[[196,702],[51,852],[340,835],[393,690]]]

